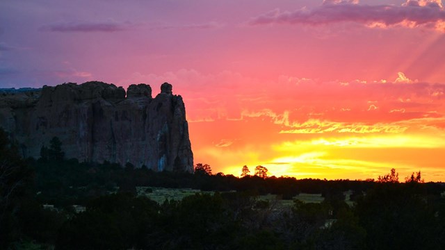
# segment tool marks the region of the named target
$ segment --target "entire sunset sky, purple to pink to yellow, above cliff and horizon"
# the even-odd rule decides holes
[[[0,2],[0,88],[173,85],[195,163],[445,181],[441,0]]]

